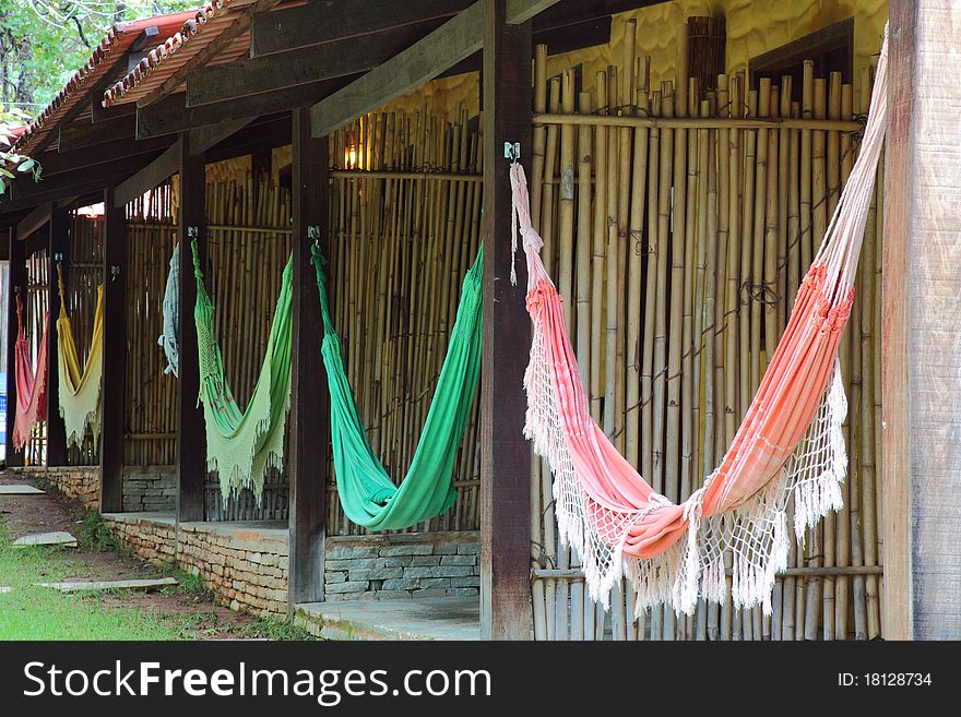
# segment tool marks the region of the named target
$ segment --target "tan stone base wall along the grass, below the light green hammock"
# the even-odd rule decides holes
[[[199,575],[216,600],[260,616],[287,612],[287,528],[269,523],[181,523],[134,514],[105,515],[110,530],[141,558],[176,561]]]

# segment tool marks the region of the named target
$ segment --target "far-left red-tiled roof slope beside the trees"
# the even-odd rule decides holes
[[[20,139],[14,143],[15,150],[23,154],[29,154],[46,140],[59,121],[76,107],[87,96],[87,92],[116,67],[143,31],[156,27],[158,33],[155,41],[163,41],[192,15],[192,12],[178,12],[133,22],[116,23],[94,49],[90,59],[73,73],[73,76],[57,93],[50,104],[24,129]]]

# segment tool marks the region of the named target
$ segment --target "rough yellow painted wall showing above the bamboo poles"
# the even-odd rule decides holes
[[[691,15],[725,16],[728,73],[746,69],[751,57],[853,16],[856,80],[880,50],[888,0],[673,0],[615,15],[609,44],[554,56],[548,60],[548,72],[554,75],[582,64],[584,89],[591,89],[598,71],[608,64],[624,64],[625,21],[633,17],[638,21],[637,53],[651,57],[652,86],[674,80],[677,26]],[[414,111],[425,103],[440,117],[452,112],[458,104],[476,113],[477,73],[430,82],[398,98],[389,108]]]

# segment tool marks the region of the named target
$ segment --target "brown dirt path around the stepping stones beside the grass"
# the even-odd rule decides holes
[[[29,477],[0,471],[0,485],[31,485],[36,480]],[[24,535],[64,530],[80,540],[75,549],[51,550],[47,555],[50,572],[63,573],[71,579],[133,579],[169,575],[138,559],[135,555],[119,552],[108,545],[108,537],[102,524],[91,518],[79,501],[68,499],[54,489],[43,495],[0,495],[0,524],[16,539]],[[36,575],[43,581],[45,575]],[[203,590],[199,581],[185,578],[177,588],[158,591],[127,590],[123,593],[86,596],[82,599],[99,600],[107,608],[127,608],[145,611],[157,620],[170,624],[194,625],[188,629],[186,640],[217,640],[258,637],[270,631],[262,621],[244,616],[227,608],[216,606],[212,596]],[[31,576],[33,579],[34,576]]]

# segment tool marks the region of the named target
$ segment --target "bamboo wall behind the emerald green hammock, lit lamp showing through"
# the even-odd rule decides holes
[[[463,109],[368,115],[331,139],[329,290],[371,446],[400,481],[420,438],[480,241],[480,141]],[[415,530],[477,529],[477,402],[451,511]],[[329,487],[328,530],[356,535]]]

